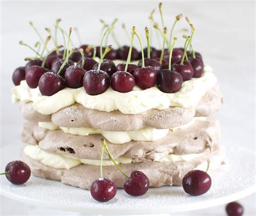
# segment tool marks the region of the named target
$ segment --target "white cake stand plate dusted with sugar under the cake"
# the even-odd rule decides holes
[[[116,197],[108,203],[98,203],[87,190],[37,177],[31,177],[21,186],[12,185],[1,177],[0,192],[24,203],[86,214],[161,214],[198,210],[238,200],[255,192],[255,154],[242,145],[228,146],[232,147],[228,147],[225,170],[212,179],[211,190],[198,197],[187,195],[182,187],[164,186],[150,188],[138,198],[118,190]],[[17,144],[1,149],[4,155],[1,171],[9,161],[19,158],[17,149]],[[9,152],[17,154],[10,156]]]

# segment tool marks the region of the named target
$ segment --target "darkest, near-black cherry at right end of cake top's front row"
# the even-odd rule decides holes
[[[160,70],[157,74],[158,88],[165,93],[175,93],[181,89],[183,78],[180,73],[168,69]]]

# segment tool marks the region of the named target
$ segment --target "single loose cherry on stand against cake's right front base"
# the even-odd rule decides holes
[[[212,185],[212,179],[208,173],[201,170],[192,170],[185,174],[182,180],[184,191],[190,195],[202,195],[206,193]]]

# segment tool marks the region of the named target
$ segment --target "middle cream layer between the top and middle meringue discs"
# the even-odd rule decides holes
[[[184,129],[192,125],[197,120],[205,120],[205,117],[195,117],[191,122],[174,127],[170,129],[171,131],[177,129]],[[38,127],[48,129],[48,130],[58,130],[61,129],[65,133],[70,133],[73,135],[89,136],[90,134],[102,134],[110,143],[113,144],[123,144],[131,140],[134,141],[154,141],[164,138],[168,133],[169,129],[154,129],[153,127],[145,127],[136,131],[104,131],[102,129],[95,129],[93,127],[58,127],[52,122],[39,122]]]

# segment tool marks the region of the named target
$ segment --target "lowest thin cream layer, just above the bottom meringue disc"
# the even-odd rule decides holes
[[[100,160],[92,160],[92,159],[80,159],[71,156],[65,156],[64,154],[56,154],[44,151],[39,148],[38,145],[26,145],[24,148],[24,153],[26,156],[30,158],[40,161],[42,164],[58,169],[70,169],[80,164],[88,164],[88,165],[95,165],[100,166]],[[176,155],[176,154],[169,154],[168,156],[161,158],[159,160],[155,160],[157,162],[177,162],[177,161],[188,161],[195,158],[199,158],[203,156],[204,153],[198,154],[185,154],[185,155]],[[130,164],[139,161],[132,160],[131,158],[127,157],[119,157],[116,159],[117,164]],[[103,166],[112,166],[113,163],[111,160],[103,160]]]

